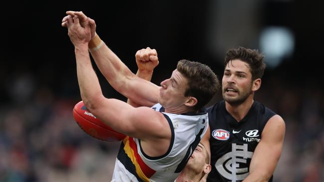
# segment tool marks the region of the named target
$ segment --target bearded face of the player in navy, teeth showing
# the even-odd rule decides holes
[[[229,61],[222,79],[225,101],[240,104],[252,95],[252,74],[249,65],[241,60]]]

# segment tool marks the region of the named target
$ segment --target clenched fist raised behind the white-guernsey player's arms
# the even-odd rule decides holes
[[[142,72],[153,72],[155,67],[159,65],[158,53],[150,47],[137,51],[135,58],[138,69]]]

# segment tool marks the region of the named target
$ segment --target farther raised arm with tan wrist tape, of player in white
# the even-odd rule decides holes
[[[81,24],[88,18],[81,11],[67,11],[71,16],[78,16]],[[88,18],[90,27],[96,27],[94,20]],[[160,87],[133,74],[128,67],[109,49],[98,35],[93,36],[89,50],[100,72],[109,84],[118,92],[144,106],[158,103]]]

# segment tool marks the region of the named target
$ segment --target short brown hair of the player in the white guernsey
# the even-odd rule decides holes
[[[207,65],[180,60],[176,69],[188,79],[188,88],[184,92],[184,96],[197,98],[195,109],[200,109],[206,105],[220,87],[217,76]]]

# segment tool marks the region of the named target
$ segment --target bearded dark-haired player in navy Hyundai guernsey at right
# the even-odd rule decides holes
[[[204,146],[210,146],[212,169],[207,182],[272,182],[285,123],[253,99],[261,86],[263,58],[257,50],[243,47],[226,54],[224,100],[207,109],[209,128],[202,139]]]

